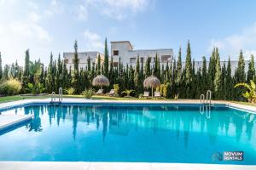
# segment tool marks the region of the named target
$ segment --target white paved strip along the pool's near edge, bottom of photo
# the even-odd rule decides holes
[[[255,170],[256,166],[189,163],[0,161],[1,170]]]

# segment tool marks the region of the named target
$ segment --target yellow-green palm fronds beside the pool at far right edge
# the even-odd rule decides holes
[[[244,98],[248,100],[248,102],[255,103],[256,101],[256,86],[253,80],[250,80],[250,84],[247,84],[245,82],[237,83],[234,88],[237,87],[244,87],[247,88],[247,92],[244,94],[241,94]]]

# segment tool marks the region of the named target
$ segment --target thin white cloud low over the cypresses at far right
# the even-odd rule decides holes
[[[224,37],[223,39],[212,39],[209,50],[212,47],[218,47],[224,59],[230,54],[231,59],[238,59],[240,50],[242,49],[245,59],[249,59],[250,55],[256,56],[256,23],[243,31]]]

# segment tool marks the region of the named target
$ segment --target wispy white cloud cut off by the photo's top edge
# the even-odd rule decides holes
[[[123,20],[133,14],[142,12],[152,2],[153,0],[85,0],[84,7],[93,7],[110,18]]]

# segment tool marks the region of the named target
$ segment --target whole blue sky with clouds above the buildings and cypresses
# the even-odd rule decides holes
[[[192,57],[248,59],[256,54],[256,2],[253,0],[0,0],[0,51],[3,64],[31,58],[49,62],[52,51],[103,51],[108,41],[130,40],[134,48],[173,48],[189,40]]]

